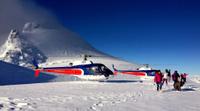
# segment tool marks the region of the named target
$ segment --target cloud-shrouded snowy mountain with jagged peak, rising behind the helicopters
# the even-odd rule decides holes
[[[69,61],[82,59],[83,55],[92,55],[94,62],[103,61],[108,67],[113,63],[133,69],[139,67],[98,51],[62,26],[53,13],[38,6],[34,0],[1,0],[0,24],[0,59],[12,64],[30,66],[36,59],[46,65],[66,65]]]

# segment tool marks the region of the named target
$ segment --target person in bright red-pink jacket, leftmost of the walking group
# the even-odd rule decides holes
[[[154,82],[156,83],[157,85],[157,91],[160,91],[162,90],[162,78],[163,78],[163,75],[161,73],[161,71],[156,71],[156,74],[155,74],[155,77],[154,77]]]

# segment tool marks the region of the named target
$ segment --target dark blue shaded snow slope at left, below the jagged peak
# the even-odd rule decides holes
[[[56,76],[48,74],[41,74],[35,78],[34,71],[30,69],[0,61],[0,85],[48,82],[55,78]]]

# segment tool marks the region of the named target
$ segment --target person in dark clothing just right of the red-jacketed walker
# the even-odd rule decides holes
[[[174,71],[174,74],[172,75],[172,79],[174,81],[174,89],[180,91],[181,90],[181,82],[180,82],[180,75],[178,71]]]

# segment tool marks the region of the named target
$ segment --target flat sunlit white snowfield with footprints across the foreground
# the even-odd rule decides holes
[[[199,111],[200,84],[182,91],[172,83],[157,92],[152,81],[58,82],[0,86],[1,110],[26,111]]]

